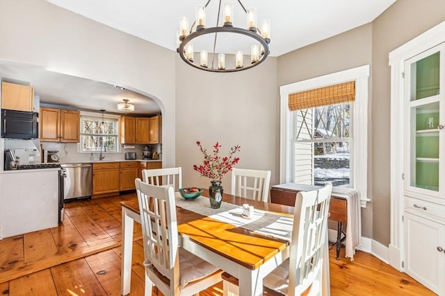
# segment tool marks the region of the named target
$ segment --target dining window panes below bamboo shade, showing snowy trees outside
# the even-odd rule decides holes
[[[293,111],[293,182],[349,186],[350,107],[341,103]]]

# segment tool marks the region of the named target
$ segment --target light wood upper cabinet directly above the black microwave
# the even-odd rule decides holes
[[[27,85],[1,82],[1,109],[34,111],[34,89]]]

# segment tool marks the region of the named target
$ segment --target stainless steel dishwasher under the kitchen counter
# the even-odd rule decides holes
[[[92,193],[92,164],[62,164],[64,200],[89,198]]]

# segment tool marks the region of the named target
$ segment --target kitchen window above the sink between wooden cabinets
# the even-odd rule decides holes
[[[118,152],[119,120],[81,116],[81,152]]]

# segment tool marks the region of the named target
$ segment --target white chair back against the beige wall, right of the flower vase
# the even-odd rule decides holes
[[[269,184],[270,171],[232,168],[232,195],[267,202]]]

